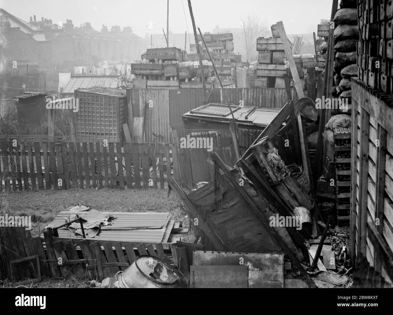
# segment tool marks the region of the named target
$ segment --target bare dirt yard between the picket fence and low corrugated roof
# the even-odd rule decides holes
[[[60,211],[78,203],[107,212],[169,212],[171,219],[188,227],[188,217],[180,208],[180,200],[167,189],[68,189],[39,192],[1,192],[0,212],[14,216],[31,216],[33,236],[39,236]],[[183,234],[190,241],[192,235]]]

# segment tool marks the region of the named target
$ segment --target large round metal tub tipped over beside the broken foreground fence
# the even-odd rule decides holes
[[[162,259],[142,255],[118,275],[119,288],[178,288],[179,276]]]

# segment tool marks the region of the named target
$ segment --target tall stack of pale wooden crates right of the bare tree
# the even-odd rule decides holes
[[[284,75],[288,74],[285,51],[281,38],[257,38],[258,64],[255,87],[285,88]]]

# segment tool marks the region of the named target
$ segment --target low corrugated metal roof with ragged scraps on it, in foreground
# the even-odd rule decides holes
[[[70,214],[85,214],[86,212],[61,211],[50,223],[50,227],[60,226],[68,221]],[[105,212],[111,214],[116,219],[112,220],[112,225],[103,227],[93,239],[124,242],[160,243],[163,239],[167,224],[169,222],[168,212]],[[159,229],[132,229],[133,226],[161,226]],[[128,229],[127,229],[128,228]],[[122,229],[119,231],[116,229]],[[74,233],[68,229],[58,230],[59,237],[76,238]]]

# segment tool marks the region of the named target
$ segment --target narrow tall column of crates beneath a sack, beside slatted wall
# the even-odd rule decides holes
[[[334,163],[336,166],[336,209],[338,225],[349,225],[351,201],[351,130],[335,128]]]

